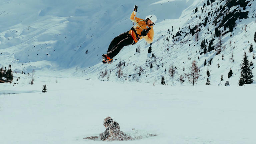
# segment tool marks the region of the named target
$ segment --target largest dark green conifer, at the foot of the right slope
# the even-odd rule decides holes
[[[252,70],[250,69],[249,60],[247,58],[246,52],[244,52],[243,61],[240,69],[241,69],[241,75],[240,75],[239,85],[251,84],[253,82],[252,80],[253,75],[252,75]]]

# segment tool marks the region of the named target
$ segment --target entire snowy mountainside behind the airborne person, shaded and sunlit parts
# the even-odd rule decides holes
[[[217,11],[220,5],[224,6],[226,2],[232,1],[216,0],[212,6],[210,4],[203,7],[204,2],[206,3],[206,1],[200,0],[152,0],[145,4],[145,1],[34,2],[26,0],[23,3],[3,1],[1,5],[3,11],[0,13],[0,17],[5,21],[3,22],[4,27],[0,29],[2,53],[0,61],[3,66],[12,64],[18,72],[25,71],[27,73],[33,69],[45,72],[50,70],[56,73],[63,71],[63,75],[72,73],[75,76],[98,79],[100,72],[107,70],[109,80],[112,81],[128,80],[159,84],[164,76],[166,84],[180,85],[180,75],[184,77],[185,73],[189,72],[192,61],[196,60],[201,75],[197,84],[205,84],[206,70],[209,69],[211,84],[219,84],[220,77],[223,75],[224,82],[228,80],[231,85],[237,85],[243,52],[246,51],[249,60],[255,63],[255,60],[252,59],[253,53],[248,53],[250,43],[255,47],[253,42],[255,32],[254,1],[248,1],[245,10],[239,5],[231,5],[229,11],[224,13],[226,15],[228,12],[239,9],[241,12],[249,11],[247,19],[235,21],[236,26],[232,37],[230,37],[230,32],[222,36],[223,46],[226,46],[226,49],[222,49],[219,55],[216,55],[217,51],[200,55],[202,52],[200,44],[203,39],[209,43],[214,37],[216,27],[214,23],[218,21],[216,17],[220,12],[224,12],[220,10],[217,12],[218,14],[214,14],[214,11]],[[106,53],[111,40],[132,26],[129,16],[135,4],[139,6],[138,17],[144,18],[150,13],[158,17],[154,26],[155,38],[152,43],[152,53],[155,57],[151,58],[152,53],[147,53],[149,45],[145,44],[143,40],[135,46],[127,46],[121,50],[113,64],[102,65],[100,63],[101,55]],[[195,13],[196,7],[198,7],[198,12]],[[201,8],[204,9],[203,12],[201,12]],[[208,12],[213,16],[208,16]],[[17,14],[19,15],[18,19],[14,19]],[[209,17],[209,21],[206,26],[200,26],[199,40],[195,41],[195,36],[191,35],[188,27],[193,29],[197,23],[202,24],[206,16]],[[247,32],[244,31],[245,24]],[[219,27],[219,30],[224,32],[223,27]],[[172,36],[176,35],[178,31],[181,36],[176,36],[173,40]],[[167,37],[169,42],[166,40]],[[214,39],[213,45],[216,45],[218,38],[214,37]],[[234,62],[229,60],[231,58],[229,40],[232,41],[231,47],[235,46],[233,49]],[[135,52],[136,48],[140,49],[140,53]],[[86,50],[88,50],[88,54],[85,53]],[[224,60],[221,59],[222,54]],[[204,66],[204,60],[208,63],[211,58],[213,58],[212,64]],[[120,61],[125,62],[125,66],[121,67],[122,78],[117,77],[119,68],[116,65]],[[150,69],[151,63],[152,69]],[[220,68],[217,67],[218,63]],[[177,68],[173,78],[168,74],[170,65]],[[141,76],[138,75],[139,70],[135,71],[136,66],[143,70]],[[230,68],[234,75],[228,79],[227,74]],[[256,73],[255,69],[253,69],[253,73]],[[107,77],[100,79],[106,80]],[[190,84],[185,79],[183,85]]]

